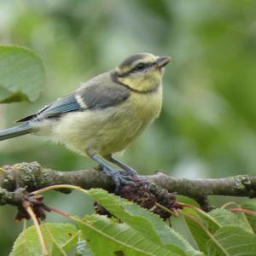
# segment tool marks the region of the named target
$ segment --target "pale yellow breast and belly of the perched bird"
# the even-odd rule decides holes
[[[132,95],[116,107],[67,113],[53,127],[52,137],[80,154],[122,151],[159,115],[161,91],[154,94]]]

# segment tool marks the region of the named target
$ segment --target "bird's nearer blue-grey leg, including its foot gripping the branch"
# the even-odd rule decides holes
[[[134,185],[129,177],[123,176],[120,172],[114,170],[112,167],[108,166],[108,163],[97,154],[89,154],[92,160],[95,160],[100,166],[102,166],[102,172],[105,172],[108,176],[113,177],[113,181],[116,185],[115,192],[119,191],[120,184]]]

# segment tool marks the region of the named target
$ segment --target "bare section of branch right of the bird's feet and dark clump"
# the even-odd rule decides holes
[[[206,212],[213,208],[208,202],[208,195],[256,197],[256,177],[249,175],[188,179],[170,177],[158,172],[156,175],[149,176],[148,179],[169,192],[175,191],[177,195],[193,198]]]

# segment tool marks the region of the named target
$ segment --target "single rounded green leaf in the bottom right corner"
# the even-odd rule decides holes
[[[218,247],[207,242],[207,255],[247,256],[256,255],[256,235],[236,226],[224,226],[217,230],[214,238],[224,248],[220,253]]]

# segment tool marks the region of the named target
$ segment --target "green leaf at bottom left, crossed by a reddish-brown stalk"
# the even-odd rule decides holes
[[[65,255],[78,241],[79,231],[73,224],[41,224],[44,241],[49,249],[49,255]],[[35,227],[24,230],[15,241],[10,256],[42,255],[38,233]]]

